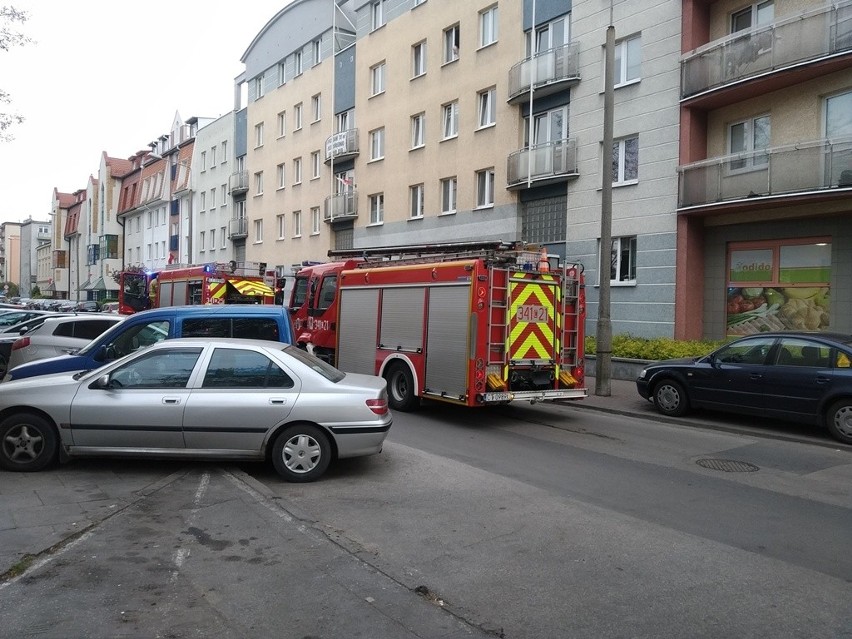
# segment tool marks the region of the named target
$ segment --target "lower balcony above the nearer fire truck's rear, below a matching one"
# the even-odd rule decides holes
[[[506,174],[510,191],[567,182],[579,175],[577,171],[577,140],[568,138],[536,144],[515,151],[509,156]]]

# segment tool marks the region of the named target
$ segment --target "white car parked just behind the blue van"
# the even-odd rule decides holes
[[[106,315],[47,318],[12,343],[8,368],[77,351],[123,319]]]

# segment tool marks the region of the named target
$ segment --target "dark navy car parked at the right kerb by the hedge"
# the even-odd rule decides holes
[[[852,335],[749,335],[704,357],[650,364],[636,388],[664,415],[707,408],[774,417],[825,426],[852,444]]]

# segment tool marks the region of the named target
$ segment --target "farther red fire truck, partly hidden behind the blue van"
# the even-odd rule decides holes
[[[259,275],[264,267],[230,262],[125,270],[119,273],[118,312],[191,304],[272,304],[275,291]]]

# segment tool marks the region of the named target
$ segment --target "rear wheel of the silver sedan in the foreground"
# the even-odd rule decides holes
[[[272,464],[287,481],[314,481],[331,462],[328,435],[312,424],[294,424],[284,429],[272,447]]]

